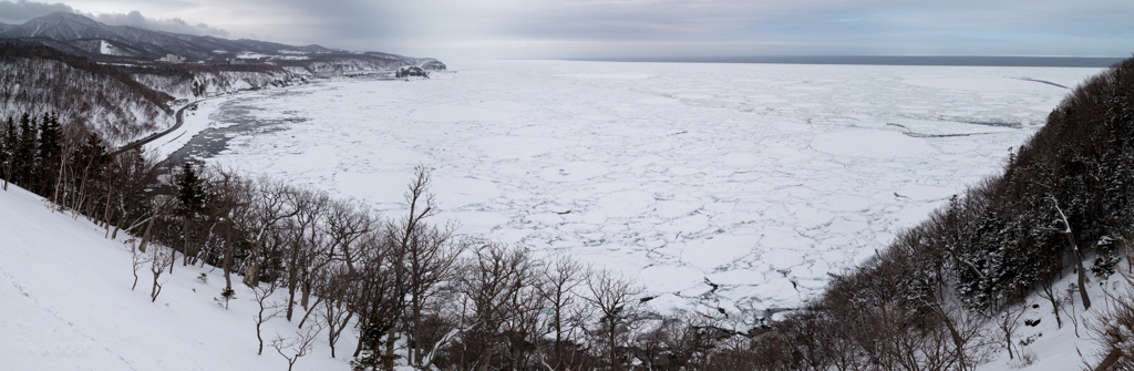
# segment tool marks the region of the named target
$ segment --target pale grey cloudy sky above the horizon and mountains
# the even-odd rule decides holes
[[[1131,57],[1131,0],[0,0],[113,25],[442,60]]]

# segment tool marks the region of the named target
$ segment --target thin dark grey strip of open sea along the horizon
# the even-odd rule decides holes
[[[1095,57],[933,57],[933,56],[779,56],[576,59],[626,62],[781,64],[875,66],[1110,67],[1124,58]]]

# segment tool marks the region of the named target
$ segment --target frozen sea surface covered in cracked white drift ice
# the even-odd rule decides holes
[[[210,161],[640,279],[661,310],[798,305],[968,184],[1098,68],[454,64],[234,99]],[[226,110],[226,107],[239,109]],[[276,124],[272,124],[276,123]],[[718,285],[713,290],[713,286]]]

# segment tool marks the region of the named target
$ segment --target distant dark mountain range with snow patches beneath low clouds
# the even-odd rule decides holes
[[[0,39],[20,44],[44,45],[100,61],[155,61],[167,54],[185,61],[211,64],[270,64],[305,67],[311,73],[325,66],[332,73],[357,69],[393,70],[401,66],[445,69],[431,58],[411,58],[381,52],[352,52],[320,45],[293,47],[257,40],[227,40],[150,31],[130,26],[110,26],[82,15],[52,12],[23,25],[0,26]],[[344,62],[348,60],[349,62]],[[180,61],[180,59],[178,59]],[[322,62],[315,67],[315,62]]]

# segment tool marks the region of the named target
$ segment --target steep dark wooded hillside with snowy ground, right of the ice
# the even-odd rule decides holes
[[[1002,174],[835,276],[821,298],[756,338],[758,364],[968,369],[1015,357],[1019,368],[1031,354],[1036,370],[1103,359],[1127,369],[1134,307],[1119,273],[1131,273],[1123,261],[1134,255],[1132,154],[1127,59],[1064,99]],[[1084,342],[1100,338],[1110,345]]]

